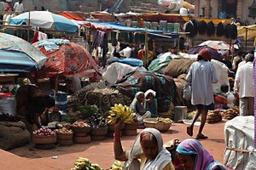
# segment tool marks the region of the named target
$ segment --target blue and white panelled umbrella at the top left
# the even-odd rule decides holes
[[[32,11],[19,14],[10,20],[11,26],[21,26],[26,23],[26,26],[40,27],[53,31],[78,31],[77,24],[68,20],[66,17],[59,14],[53,14],[49,11]]]

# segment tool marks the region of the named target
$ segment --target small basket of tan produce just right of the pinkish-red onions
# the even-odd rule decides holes
[[[66,127],[55,129],[57,136],[57,143],[60,145],[71,145],[73,144],[73,131],[68,130]]]

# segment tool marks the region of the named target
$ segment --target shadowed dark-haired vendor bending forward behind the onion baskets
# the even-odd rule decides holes
[[[26,112],[26,121],[31,125],[31,129],[36,130],[42,127],[42,124],[46,125],[46,120],[40,120],[40,116],[47,114],[49,108],[55,106],[55,99],[49,95],[34,97]]]

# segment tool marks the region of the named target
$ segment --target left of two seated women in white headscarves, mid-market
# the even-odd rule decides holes
[[[143,124],[145,118],[150,118],[150,111],[146,110],[145,94],[143,92],[137,92],[135,98],[130,105],[131,111],[136,113],[137,121]]]

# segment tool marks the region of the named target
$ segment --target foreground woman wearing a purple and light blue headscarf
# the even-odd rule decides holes
[[[196,139],[185,139],[177,145],[177,158],[188,170],[227,170]]]

